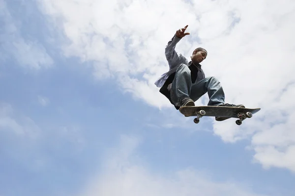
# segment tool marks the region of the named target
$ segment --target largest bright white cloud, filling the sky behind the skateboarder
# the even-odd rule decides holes
[[[62,43],[64,55],[94,61],[94,76],[113,77],[134,98],[173,111],[153,83],[168,71],[167,42],[189,25],[191,34],[177,51],[189,58],[196,47],[206,48],[203,68],[221,81],[226,101],[262,108],[240,127],[232,119],[214,122],[214,133],[225,142],[252,137],[256,161],[294,170],[295,141],[285,135],[294,135],[295,1],[283,0],[279,6],[275,0],[39,2],[56,21],[52,25],[70,40]]]

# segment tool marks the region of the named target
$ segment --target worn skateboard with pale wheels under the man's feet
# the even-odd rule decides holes
[[[208,117],[225,117],[237,118],[236,124],[241,125],[242,121],[251,118],[261,108],[242,108],[242,107],[225,107],[225,106],[182,106],[179,112],[185,117],[197,116],[194,123],[199,123],[203,116]]]

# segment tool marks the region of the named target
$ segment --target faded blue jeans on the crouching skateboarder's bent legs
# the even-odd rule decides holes
[[[224,103],[225,95],[216,77],[207,77],[192,84],[190,73],[190,69],[185,64],[177,68],[170,91],[171,100],[176,106],[181,106],[184,98],[196,101],[206,93],[210,99],[208,106]]]

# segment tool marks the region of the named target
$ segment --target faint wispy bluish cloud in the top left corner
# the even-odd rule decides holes
[[[53,64],[52,58],[41,44],[22,37],[21,23],[11,16],[4,0],[0,0],[0,22],[0,60],[5,61],[12,56],[20,66],[34,70],[48,68]]]

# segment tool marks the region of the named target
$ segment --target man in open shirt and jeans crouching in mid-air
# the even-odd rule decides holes
[[[225,103],[225,95],[220,82],[216,77],[205,77],[200,63],[206,59],[207,50],[197,48],[193,51],[191,61],[188,61],[181,53],[175,51],[176,44],[186,35],[188,25],[176,31],[174,37],[165,48],[169,71],[161,75],[155,82],[160,92],[165,95],[178,110],[181,106],[194,106],[195,101],[208,93],[208,105],[226,107],[245,107]],[[228,118],[215,117],[216,121],[224,121]]]

